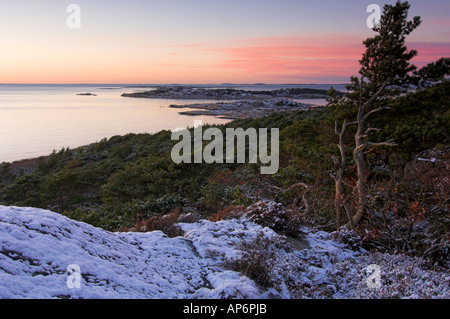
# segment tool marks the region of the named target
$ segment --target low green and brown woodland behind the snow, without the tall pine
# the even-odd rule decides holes
[[[367,152],[370,213],[356,230],[366,245],[406,250],[402,245],[408,240],[420,243],[415,249],[424,252],[448,236],[449,92],[450,81],[437,83],[394,99],[390,111],[373,118],[373,125],[383,129],[373,138],[394,138],[399,145]],[[128,134],[55,151],[26,174],[14,169],[14,163],[2,164],[0,203],[51,209],[116,231],[174,211],[212,218],[231,206],[264,199],[304,214],[305,197],[305,220],[333,230],[330,173],[332,156],[339,154],[335,117],[330,104],[218,126],[280,128],[280,170],[273,176],[260,175],[257,164],[177,165],[170,158],[176,142],[169,131]],[[349,155],[344,179],[349,188],[353,165]],[[300,183],[310,189],[295,186]],[[442,256],[443,250],[436,249],[430,254]]]

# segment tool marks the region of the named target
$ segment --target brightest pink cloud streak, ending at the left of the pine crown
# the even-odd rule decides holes
[[[209,49],[220,53],[217,67],[273,78],[347,78],[358,71],[364,47],[352,37],[264,38]]]

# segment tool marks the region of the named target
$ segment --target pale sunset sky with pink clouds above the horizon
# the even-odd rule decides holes
[[[386,3],[0,0],[0,83],[346,83]],[[414,63],[450,56],[450,1],[409,3]]]

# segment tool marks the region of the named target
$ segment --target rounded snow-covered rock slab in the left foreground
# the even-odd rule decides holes
[[[236,238],[261,226],[229,221],[184,228],[186,238],[111,233],[46,210],[0,206],[0,298],[263,297],[254,282],[207,253],[235,254]],[[214,229],[236,233],[213,247]],[[74,278],[70,265],[79,267],[80,288],[67,284]]]

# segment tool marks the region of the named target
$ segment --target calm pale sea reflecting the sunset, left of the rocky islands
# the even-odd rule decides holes
[[[142,90],[119,85],[0,85],[0,163],[48,155],[114,135],[193,126],[194,120],[228,122],[180,115],[179,110],[168,107],[200,101],[121,97]]]

